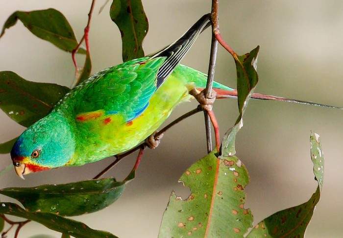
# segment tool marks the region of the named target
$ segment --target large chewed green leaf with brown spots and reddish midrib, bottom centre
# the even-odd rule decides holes
[[[191,194],[182,200],[172,192],[159,238],[243,237],[252,226],[244,208],[248,180],[237,157],[218,159],[211,153],[198,160],[180,178]]]

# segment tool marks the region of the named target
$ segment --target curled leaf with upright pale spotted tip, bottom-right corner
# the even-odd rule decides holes
[[[304,237],[307,225],[319,202],[324,174],[324,158],[319,142],[319,135],[312,132],[310,142],[311,159],[314,165],[313,171],[315,179],[318,182],[316,192],[306,203],[276,212],[259,222],[255,228],[251,230],[247,238]]]

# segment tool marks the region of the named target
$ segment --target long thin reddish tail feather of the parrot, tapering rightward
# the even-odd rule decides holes
[[[199,89],[200,91],[202,89]],[[223,90],[219,88],[214,88],[214,90],[217,92],[217,98],[237,98],[237,90]],[[283,98],[278,96],[272,96],[272,95],[266,95],[261,93],[253,93],[251,98],[253,99],[260,99],[260,100],[274,100],[274,101],[281,101],[281,102],[288,102],[288,103],[297,103],[297,104],[305,104],[305,105],[312,105],[312,106],[323,106],[323,107],[329,107],[329,108],[335,108],[335,109],[343,109],[343,107],[339,106],[329,106],[325,104],[319,104],[319,103],[312,103],[308,101],[302,101],[302,100],[296,100],[296,99],[289,99],[289,98]]]

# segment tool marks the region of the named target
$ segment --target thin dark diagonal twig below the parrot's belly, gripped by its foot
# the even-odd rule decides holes
[[[170,124],[168,124],[167,126],[165,126],[162,130],[156,132],[155,134],[155,138],[158,137],[159,135],[161,135],[162,133],[166,132],[168,129],[170,129],[172,126],[174,126],[175,124],[179,123],[180,121],[186,119],[187,117],[190,117],[194,114],[196,114],[197,112],[202,111],[201,107],[198,106],[195,109],[183,114],[182,116],[178,117],[177,119],[175,119],[174,121],[172,121]],[[105,173],[107,173],[111,168],[113,168],[117,163],[119,163],[119,161],[121,161],[124,157],[131,155],[132,153],[134,153],[135,151],[141,149],[142,147],[146,146],[146,143],[142,143],[134,148],[132,148],[131,150],[120,154],[120,155],[116,155],[115,158],[116,160],[114,160],[112,163],[110,163],[106,168],[104,168],[100,173],[98,173],[97,176],[95,176],[93,179],[98,179],[100,178],[102,175],[104,175]]]

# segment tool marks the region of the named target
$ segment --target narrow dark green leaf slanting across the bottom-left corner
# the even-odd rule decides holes
[[[36,221],[51,230],[75,238],[116,238],[111,233],[93,230],[86,224],[49,212],[27,212],[14,203],[0,203],[0,213]]]

